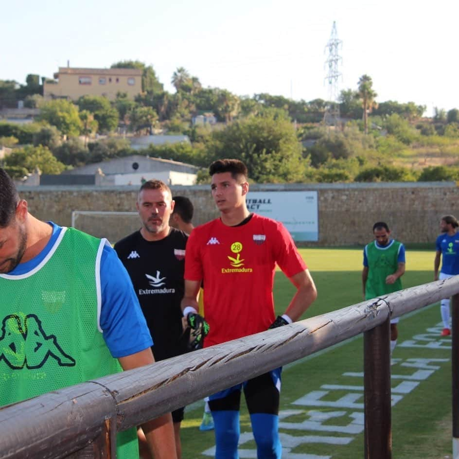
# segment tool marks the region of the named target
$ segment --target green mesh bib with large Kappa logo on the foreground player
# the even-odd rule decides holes
[[[98,330],[103,242],[72,228],[62,235],[37,269],[0,277],[0,405],[122,371]],[[137,441],[125,440],[135,429],[120,435],[118,458],[138,457]]]

